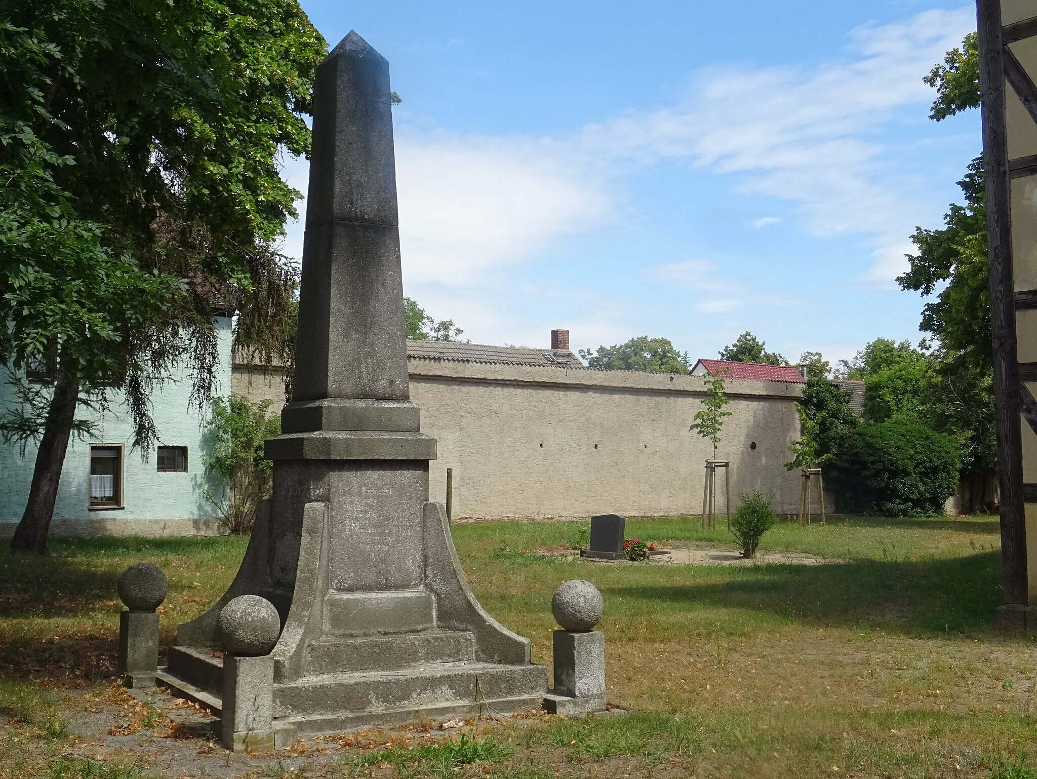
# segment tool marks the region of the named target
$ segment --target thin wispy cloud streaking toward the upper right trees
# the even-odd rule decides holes
[[[877,136],[900,109],[932,99],[922,76],[974,25],[972,7],[929,10],[851,31],[844,62],[712,69],[682,105],[588,127],[581,146],[738,174],[747,194],[796,201],[813,235],[867,235],[873,265],[863,278],[889,283],[932,206],[919,202],[923,183],[897,169],[902,152]]]

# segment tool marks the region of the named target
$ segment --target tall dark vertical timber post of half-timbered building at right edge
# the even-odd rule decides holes
[[[1019,370],[1016,364],[1012,229],[1008,179],[1008,129],[1005,119],[1006,61],[1013,78],[1033,87],[1001,31],[1001,0],[977,0],[980,93],[983,112],[983,175],[986,183],[987,257],[990,268],[990,325],[993,339],[993,396],[998,422],[998,476],[1001,481],[1001,557],[1005,603],[1028,605],[1027,535],[1022,502],[1022,436],[1019,422]],[[1021,72],[1025,79],[1019,78]],[[1016,85],[1012,85],[1016,89]],[[1018,93],[1018,89],[1016,89]],[[1037,88],[1030,110],[1037,114]],[[1022,95],[1020,95],[1020,99]],[[1024,99],[1026,105],[1026,99]]]

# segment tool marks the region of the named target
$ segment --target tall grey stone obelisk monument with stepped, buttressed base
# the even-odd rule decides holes
[[[436,441],[408,388],[388,62],[351,32],[317,68],[313,107],[293,394],[265,446],[274,495],[234,583],[179,627],[160,678],[218,708],[217,621],[253,594],[281,617],[269,656],[279,744],[538,707],[543,667],[479,606],[428,502]]]

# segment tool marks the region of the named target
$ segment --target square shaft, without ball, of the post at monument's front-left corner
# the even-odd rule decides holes
[[[224,659],[220,720],[227,749],[234,752],[274,750],[273,658],[228,655]]]

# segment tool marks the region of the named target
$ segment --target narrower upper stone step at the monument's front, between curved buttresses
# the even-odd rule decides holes
[[[362,636],[313,641],[306,670],[323,673],[393,670],[427,663],[475,660],[475,638],[461,631],[430,630],[394,636]]]

